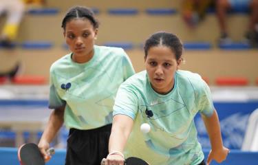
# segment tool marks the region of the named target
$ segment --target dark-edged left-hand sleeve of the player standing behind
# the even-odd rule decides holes
[[[56,87],[54,86],[54,73],[50,72],[50,100],[49,100],[49,104],[48,107],[50,109],[57,109],[59,107],[63,107],[65,106],[65,101],[62,100],[59,96],[58,93],[56,91]]]

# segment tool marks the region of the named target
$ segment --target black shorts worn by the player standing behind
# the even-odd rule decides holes
[[[70,129],[67,139],[66,165],[96,165],[107,157],[111,124],[98,129]]]

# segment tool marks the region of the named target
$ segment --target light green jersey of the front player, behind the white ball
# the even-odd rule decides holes
[[[202,162],[204,154],[193,118],[198,112],[210,116],[213,111],[211,91],[200,75],[177,71],[173,90],[161,95],[143,71],[120,85],[113,115],[128,115],[134,120],[125,157],[140,157],[151,165],[195,165]],[[146,134],[140,131],[145,122],[151,126]]]

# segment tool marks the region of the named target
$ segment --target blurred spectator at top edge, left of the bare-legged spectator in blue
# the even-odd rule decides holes
[[[190,28],[204,20],[206,10],[211,7],[214,0],[184,0],[182,1],[182,16]]]

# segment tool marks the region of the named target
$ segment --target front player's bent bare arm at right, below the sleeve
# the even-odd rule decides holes
[[[211,141],[211,151],[207,157],[207,165],[209,165],[213,159],[221,163],[226,159],[229,149],[223,146],[217,111],[214,109],[213,115],[210,117],[202,115],[202,119],[204,120]]]

